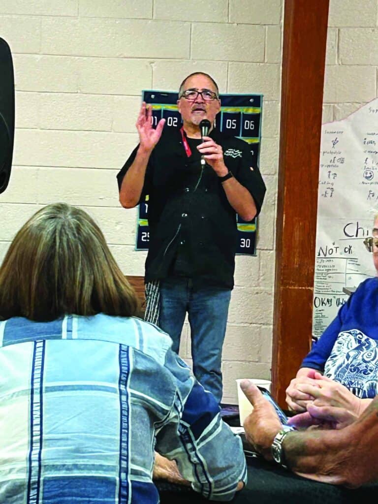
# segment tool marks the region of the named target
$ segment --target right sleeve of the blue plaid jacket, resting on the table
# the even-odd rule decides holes
[[[156,436],[156,451],[174,459],[194,490],[210,500],[231,500],[246,482],[241,439],[220,416],[214,396],[191,375],[171,350],[165,366],[176,383],[171,411]]]

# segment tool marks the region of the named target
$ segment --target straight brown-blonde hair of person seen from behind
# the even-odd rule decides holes
[[[0,267],[0,317],[133,316],[134,289],[84,210],[47,205],[18,231]]]

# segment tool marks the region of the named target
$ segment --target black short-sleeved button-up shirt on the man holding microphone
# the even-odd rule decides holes
[[[253,196],[259,213],[265,184],[248,144],[217,131],[209,136],[222,146],[225,165]],[[173,271],[192,278],[195,287],[232,289],[238,240],[236,213],[213,168],[201,166],[196,148],[201,142],[187,140],[190,157],[180,130],[164,129],[148,162],[140,200],[149,195],[145,282],[162,280]],[[119,188],[137,150],[117,175]]]

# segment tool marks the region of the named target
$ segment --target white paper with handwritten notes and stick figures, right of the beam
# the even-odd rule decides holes
[[[372,276],[371,236],[378,211],[378,98],[322,126],[312,332],[320,336],[348,299],[344,287]]]

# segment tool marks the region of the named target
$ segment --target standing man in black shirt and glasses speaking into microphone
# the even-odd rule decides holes
[[[194,374],[218,402],[236,213],[252,220],[265,195],[248,144],[214,130],[220,105],[218,86],[204,73],[181,83],[181,128],[164,129],[161,119],[153,129],[152,107],[143,103],[136,124],[140,143],[117,175],[123,207],[133,208],[149,195],[147,319],[169,334],[178,352],[188,313]]]

